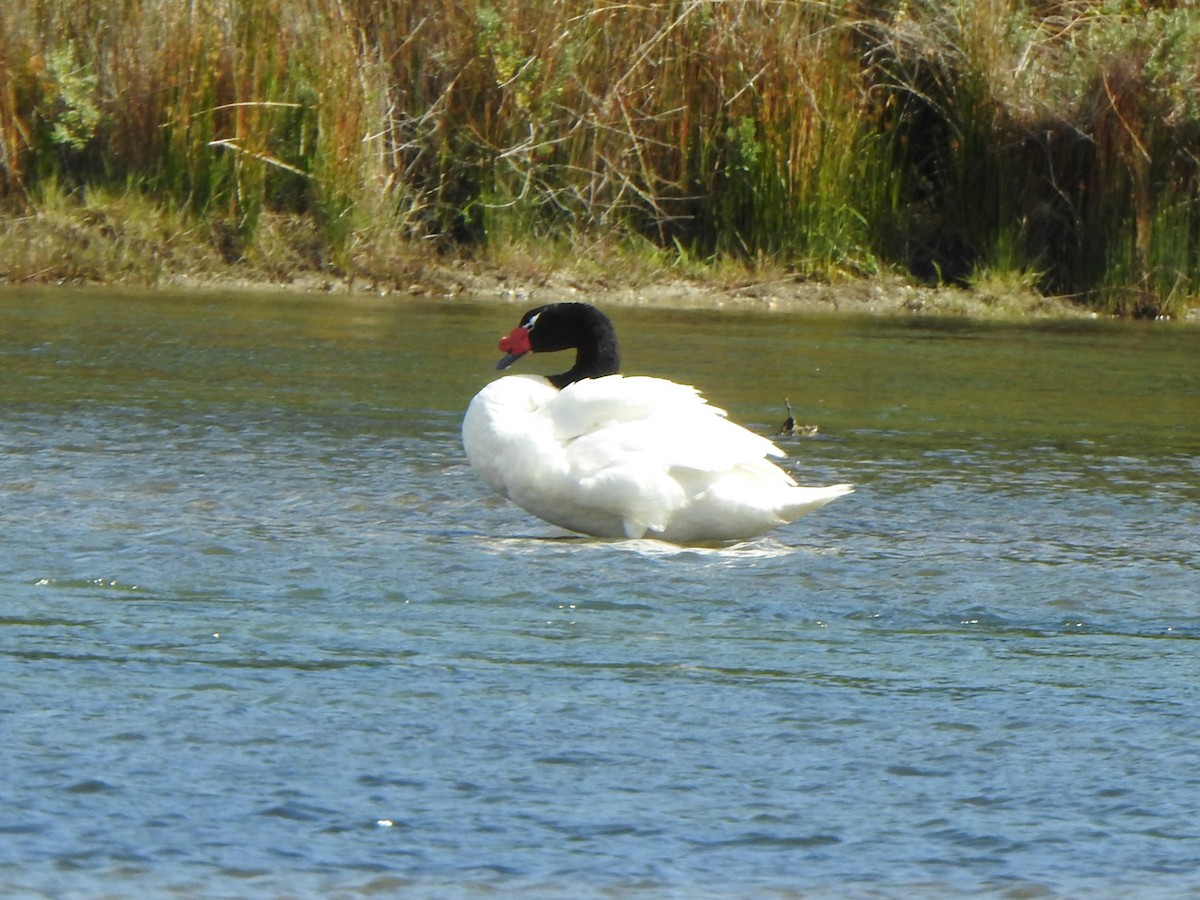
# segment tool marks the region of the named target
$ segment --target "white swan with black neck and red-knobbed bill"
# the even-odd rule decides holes
[[[779,448],[695,388],[619,374],[616,329],[589,304],[530,310],[499,348],[498,370],[528,353],[576,352],[562,374],[491,382],[462,425],[487,486],[552,524],[671,544],[745,540],[853,490],[798,486],[767,458],[784,456]]]

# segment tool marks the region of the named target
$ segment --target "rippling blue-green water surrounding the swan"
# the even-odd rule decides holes
[[[1200,332],[614,311],[858,485],[671,548],[473,478],[520,312],[0,294],[0,894],[1200,892]]]

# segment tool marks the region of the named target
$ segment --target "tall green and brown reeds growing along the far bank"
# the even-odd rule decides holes
[[[816,277],[998,274],[1126,314],[1200,294],[1190,1],[17,6],[10,222],[104,193],[229,263],[282,217],[334,272],[400,240],[606,240]]]

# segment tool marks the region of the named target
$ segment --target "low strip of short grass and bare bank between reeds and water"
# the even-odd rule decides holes
[[[341,265],[314,260],[288,223],[247,256],[222,259],[192,222],[116,206],[43,210],[0,221],[0,288],[20,284],[282,292],[512,305],[582,300],[596,306],[805,314],[940,316],[998,320],[1106,318],[998,275],[971,287],[926,286],[900,274],[814,278],[772,264],[672,265],[646,253],[510,246],[439,253],[402,240],[367,241]],[[301,229],[301,238],[304,236]],[[311,245],[310,245],[311,246]],[[319,254],[318,254],[319,256]],[[1200,322],[1200,308],[1171,318]]]

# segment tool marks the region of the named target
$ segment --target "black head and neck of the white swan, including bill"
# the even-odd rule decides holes
[[[527,312],[521,324],[500,338],[504,359],[496,367],[508,368],[527,353],[571,348],[576,350],[575,365],[550,377],[556,388],[620,371],[617,330],[607,316],[589,304],[548,304]]]

